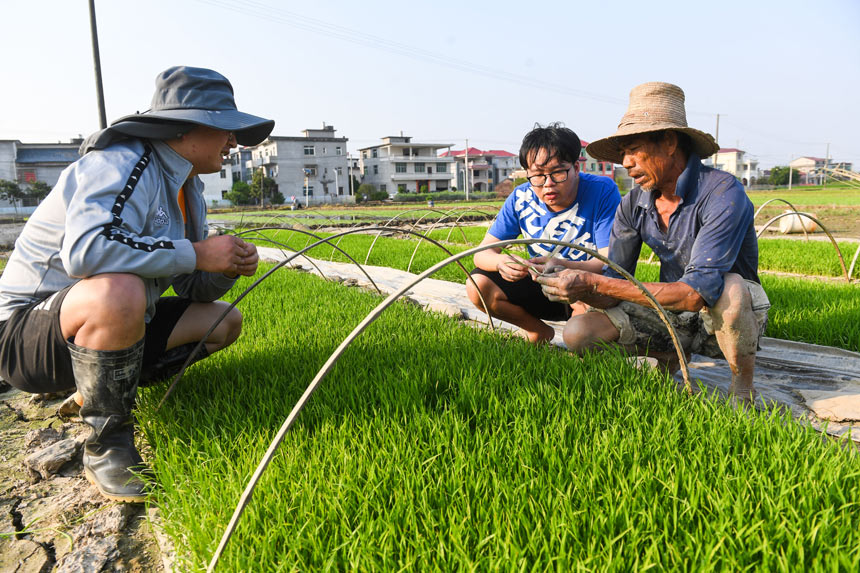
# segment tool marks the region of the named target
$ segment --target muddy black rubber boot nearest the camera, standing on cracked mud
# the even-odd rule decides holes
[[[84,444],[87,479],[108,499],[142,502],[143,459],[134,447],[131,409],[137,394],[143,339],[123,350],[90,350],[69,343],[81,419],[92,428]]]

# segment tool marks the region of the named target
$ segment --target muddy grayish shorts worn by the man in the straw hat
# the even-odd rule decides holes
[[[760,284],[745,281],[752,299],[752,311],[758,324],[758,338],[764,335],[767,328],[767,310],[770,301]],[[602,312],[612,325],[618,329],[619,344],[647,348],[653,352],[668,352],[675,349],[672,337],[660,315],[650,306],[642,306],[633,302],[621,302],[607,309],[591,308],[589,312]],[[694,352],[712,358],[723,358],[723,352],[714,336],[714,323],[708,307],[699,312],[666,311],[669,320],[685,352]]]

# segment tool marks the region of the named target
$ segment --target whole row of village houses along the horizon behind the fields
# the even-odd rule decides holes
[[[273,179],[287,203],[301,205],[354,202],[353,177],[393,197],[397,193],[493,191],[506,180],[524,176],[517,155],[505,150],[455,149],[453,143],[416,142],[401,132],[350,156],[347,142],[346,137],[336,135],[334,126],[323,124],[304,130],[301,136],[270,136],[253,147],[233,149],[220,173],[201,176],[206,202],[213,207],[228,206],[225,195],[233,184],[250,182],[255,171]],[[25,187],[35,181],[53,186],[60,172],[78,159],[80,143],[80,139],[55,144],[0,140],[0,179]],[[589,156],[587,143],[583,141],[580,169],[620,180],[629,188],[626,171]],[[762,178],[758,162],[740,149],[721,149],[706,164],[713,165],[715,159],[718,168],[744,185]],[[820,183],[825,163],[833,164],[815,157],[794,159],[790,165],[798,171],[795,184]],[[15,206],[0,201],[0,213],[28,213],[34,208],[33,200]]]

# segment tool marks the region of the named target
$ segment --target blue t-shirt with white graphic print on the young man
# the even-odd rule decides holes
[[[514,189],[502,205],[489,233],[499,240],[551,239],[582,245],[590,249],[609,246],[609,234],[621,194],[615,182],[601,175],[579,174],[579,188],[573,205],[557,213],[538,199],[526,182]],[[553,244],[528,245],[530,257],[549,255]],[[589,256],[564,247],[557,255],[568,261],[585,261]]]

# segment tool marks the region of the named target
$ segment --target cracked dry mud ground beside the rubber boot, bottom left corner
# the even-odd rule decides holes
[[[0,382],[0,571],[170,570],[157,511],[108,501],[83,477],[89,430],[57,414],[63,398]]]

